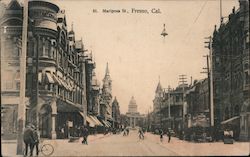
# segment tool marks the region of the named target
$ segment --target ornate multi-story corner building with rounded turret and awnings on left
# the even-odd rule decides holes
[[[1,18],[1,105],[8,108],[1,123],[4,134],[15,134],[17,128],[22,18],[17,0]],[[47,1],[29,1],[26,119],[42,137],[68,137],[73,127],[85,123],[84,55],[73,28],[68,32],[65,11]]]

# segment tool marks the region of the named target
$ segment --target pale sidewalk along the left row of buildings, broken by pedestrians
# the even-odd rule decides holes
[[[96,135],[89,135],[88,136],[88,142],[93,142],[95,140],[98,139],[102,139],[105,137],[110,136],[110,134],[96,134]],[[56,139],[56,140],[51,140],[51,139],[42,139],[43,143],[50,143],[54,146],[54,148],[56,149],[56,147],[58,147],[58,145],[63,145],[66,143],[69,143],[69,139]],[[82,137],[75,141],[75,143],[81,143],[82,141]],[[23,155],[16,155],[16,149],[17,149],[17,140],[1,140],[1,156],[3,157],[23,157]]]

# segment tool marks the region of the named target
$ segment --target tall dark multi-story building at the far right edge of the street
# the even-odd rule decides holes
[[[249,0],[239,3],[213,33],[215,124],[230,124],[235,139],[249,140]]]

